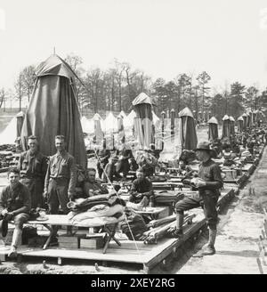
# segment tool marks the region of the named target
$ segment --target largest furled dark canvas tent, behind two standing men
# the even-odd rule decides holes
[[[58,55],[53,54],[36,69],[36,84],[21,130],[23,150],[34,134],[40,150],[51,156],[56,152],[55,135],[66,137],[67,150],[79,165],[86,166],[85,141],[74,85],[75,73]]]

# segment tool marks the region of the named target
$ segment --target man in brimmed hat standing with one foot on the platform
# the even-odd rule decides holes
[[[172,237],[181,237],[183,212],[195,207],[203,207],[209,239],[207,245],[194,256],[214,255],[218,222],[216,204],[220,196],[220,189],[223,187],[223,179],[220,167],[211,159],[215,152],[210,148],[209,142],[199,142],[196,154],[200,161],[198,178],[193,178],[191,183],[198,188],[198,193],[186,196],[176,203],[176,226],[169,230],[169,234]]]

